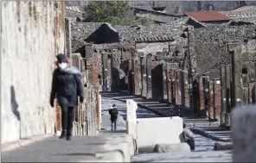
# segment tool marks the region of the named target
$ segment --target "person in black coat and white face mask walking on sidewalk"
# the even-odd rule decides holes
[[[53,73],[50,104],[54,107],[54,98],[56,97],[61,106],[62,132],[60,139],[66,136],[68,141],[72,136],[74,107],[78,106],[78,97],[80,97],[80,103],[83,103],[84,92],[80,71],[76,67],[68,65],[65,54],[58,54],[56,58],[58,68]]]

